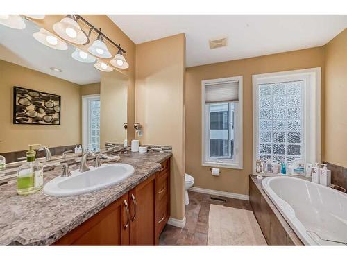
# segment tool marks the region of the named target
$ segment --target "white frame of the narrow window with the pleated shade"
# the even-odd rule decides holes
[[[219,167],[219,168],[235,168],[235,169],[242,169],[243,168],[243,139],[242,139],[242,76],[235,76],[235,77],[229,77],[229,78],[216,78],[212,80],[202,80],[201,81],[201,122],[202,122],[202,149],[201,149],[201,164],[202,166],[210,166],[210,167]],[[208,84],[216,84],[216,83],[223,83],[223,82],[230,82],[230,81],[238,81],[239,83],[239,101],[237,107],[235,107],[235,157],[237,159],[230,160],[230,159],[219,159],[220,162],[211,162],[207,159],[209,149],[210,149],[210,136],[209,132],[206,131],[209,125],[208,116],[206,115],[205,111],[205,85]],[[205,133],[208,132],[208,136],[205,137]]]

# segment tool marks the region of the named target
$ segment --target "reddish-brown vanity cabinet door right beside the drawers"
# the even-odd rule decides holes
[[[155,244],[155,175],[129,191],[130,245]]]

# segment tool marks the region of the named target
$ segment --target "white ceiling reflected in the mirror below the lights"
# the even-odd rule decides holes
[[[17,30],[0,25],[0,59],[12,62],[35,71],[62,78],[63,80],[85,85],[100,82],[100,72],[93,63],[74,60],[71,53],[75,48],[67,43],[68,49],[60,51],[52,49],[33,37],[39,31],[32,21],[24,19],[26,28]],[[52,71],[50,67],[61,69]]]

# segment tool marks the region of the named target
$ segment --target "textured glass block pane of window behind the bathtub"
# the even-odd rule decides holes
[[[260,159],[286,163],[303,159],[303,81],[258,85]]]

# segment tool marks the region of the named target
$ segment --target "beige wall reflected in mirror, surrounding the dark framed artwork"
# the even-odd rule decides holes
[[[60,125],[14,125],[13,86],[35,89],[62,98]],[[65,146],[81,144],[80,86],[60,78],[0,60],[0,153],[26,150],[28,144]],[[69,135],[67,135],[69,133]]]

